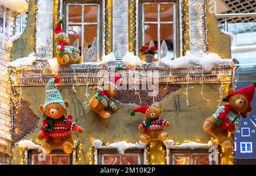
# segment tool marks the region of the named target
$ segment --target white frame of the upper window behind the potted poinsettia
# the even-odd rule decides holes
[[[174,7],[173,13],[173,21],[172,22],[160,22],[160,5],[164,4],[172,4]],[[173,24],[173,31],[174,31],[174,59],[176,58],[176,3],[175,2],[142,2],[142,46],[145,45],[144,39],[144,26],[145,26],[145,17],[144,17],[144,5],[157,5],[158,6],[158,21],[157,22],[146,22],[146,24],[157,24],[158,25],[158,61],[162,58],[160,54],[161,48],[161,36],[160,36],[160,24]]]

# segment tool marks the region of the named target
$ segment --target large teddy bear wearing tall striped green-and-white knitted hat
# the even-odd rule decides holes
[[[41,145],[41,150],[46,154],[51,153],[53,147],[62,147],[65,153],[72,153],[74,145],[72,131],[79,134],[84,132],[84,128],[71,120],[72,115],[69,115],[67,110],[70,102],[63,101],[56,87],[58,82],[57,77],[49,79],[46,85],[46,101],[39,106],[43,115],[43,124],[37,138],[46,140]],[[65,114],[68,117],[65,117]]]

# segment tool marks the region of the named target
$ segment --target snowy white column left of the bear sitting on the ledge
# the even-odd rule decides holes
[[[52,0],[36,1],[35,56],[38,60],[52,57]]]

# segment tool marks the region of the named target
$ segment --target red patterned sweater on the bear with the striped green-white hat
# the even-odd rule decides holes
[[[43,124],[41,126],[39,134],[43,136],[44,132],[47,132],[49,124]],[[53,129],[49,132],[49,136],[52,138],[63,138],[72,133],[72,131],[79,132],[79,126],[76,122],[71,121],[68,118],[65,118],[63,121],[54,122]]]

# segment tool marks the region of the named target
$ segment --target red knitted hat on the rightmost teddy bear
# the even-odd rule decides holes
[[[247,87],[244,87],[244,88],[241,88],[237,91],[233,91],[231,92],[228,96],[226,96],[226,98],[224,98],[224,101],[228,102],[229,101],[229,98],[233,95],[236,95],[236,94],[241,94],[243,96],[246,97],[248,103],[249,103],[249,106],[247,108],[247,110],[243,113],[241,113],[242,116],[245,116],[247,114],[247,111],[250,109],[250,102],[253,101],[253,97],[254,97],[254,94],[255,94],[255,84],[256,82],[253,82],[253,84],[247,86]]]

